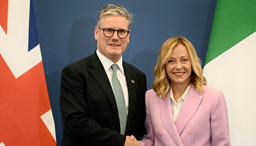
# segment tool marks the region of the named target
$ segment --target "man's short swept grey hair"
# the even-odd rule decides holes
[[[108,4],[105,7],[101,8],[101,10],[99,10],[97,27],[101,28],[103,18],[108,15],[125,17],[128,21],[128,30],[129,30],[130,25],[132,23],[133,15],[129,13],[127,9],[125,9],[121,5],[115,5],[115,4]]]

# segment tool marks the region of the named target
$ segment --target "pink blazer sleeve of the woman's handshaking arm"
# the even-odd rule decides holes
[[[145,128],[147,130],[147,134],[143,136],[143,138],[138,141],[140,146],[154,146],[154,140],[155,140],[155,134],[154,134],[154,129],[153,125],[151,122],[151,117],[150,117],[150,112],[148,110],[148,91],[146,92],[145,95],[145,103],[146,103],[146,120],[145,120]]]

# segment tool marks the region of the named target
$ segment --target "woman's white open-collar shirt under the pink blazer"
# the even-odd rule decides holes
[[[185,90],[185,92],[183,93],[183,95],[177,100],[178,103],[174,100],[174,97],[173,97],[173,89],[172,89],[172,85],[171,85],[171,88],[170,88],[170,98],[171,98],[171,105],[172,105],[172,111],[173,111],[173,119],[174,119],[174,122],[176,121],[177,117],[178,117],[178,114],[180,112],[180,108],[185,100],[185,97],[187,96],[188,94],[188,91],[189,91],[189,88],[190,88],[190,85],[188,85],[187,89]]]

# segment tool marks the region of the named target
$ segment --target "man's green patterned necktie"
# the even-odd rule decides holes
[[[114,91],[114,96],[116,98],[116,105],[117,105],[117,110],[119,115],[120,129],[121,129],[120,133],[124,135],[126,122],[127,122],[127,111],[126,111],[123,89],[116,75],[117,66],[118,66],[117,64],[113,64],[111,66],[113,70],[112,87]]]

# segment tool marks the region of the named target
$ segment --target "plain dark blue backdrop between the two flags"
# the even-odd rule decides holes
[[[147,76],[147,88],[154,81],[158,52],[168,38],[186,37],[204,64],[217,0],[33,0],[38,39],[46,83],[61,145],[63,123],[60,114],[62,69],[97,49],[94,27],[98,11],[117,4],[134,14],[130,43],[123,60]]]

